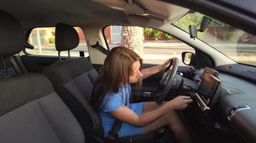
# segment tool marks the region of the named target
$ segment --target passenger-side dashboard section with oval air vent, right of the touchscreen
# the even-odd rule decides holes
[[[223,92],[219,111],[247,142],[256,142],[256,85],[228,74],[219,74]]]

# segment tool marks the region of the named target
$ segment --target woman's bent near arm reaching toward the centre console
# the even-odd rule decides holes
[[[122,105],[114,112],[109,113],[122,122],[127,122],[134,126],[144,127],[147,124],[155,121],[155,119],[163,116],[163,114],[167,113],[170,109],[185,109],[191,102],[193,102],[193,100],[190,99],[190,97],[179,96],[169,102],[166,102],[163,104],[163,106],[140,116],[134,113],[131,109],[127,108],[125,105]]]

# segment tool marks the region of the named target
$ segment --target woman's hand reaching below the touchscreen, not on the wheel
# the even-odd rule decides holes
[[[188,107],[188,104],[193,102],[191,97],[186,96],[178,96],[175,99],[170,100],[166,104],[170,107],[170,109],[183,110]]]

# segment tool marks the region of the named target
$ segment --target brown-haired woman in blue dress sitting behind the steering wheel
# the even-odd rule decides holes
[[[129,84],[165,69],[170,59],[160,66],[142,69],[142,59],[126,47],[111,49],[104,61],[104,68],[93,89],[92,102],[99,110],[104,137],[108,137],[116,119],[122,121],[119,137],[146,134],[163,126],[173,131],[178,142],[191,142],[186,128],[174,110],[185,109],[192,99],[179,96],[162,105],[155,102],[129,103]],[[127,104],[126,104],[127,103]]]

